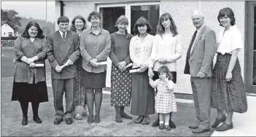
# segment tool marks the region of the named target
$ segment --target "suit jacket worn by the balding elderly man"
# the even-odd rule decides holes
[[[187,51],[184,73],[198,77],[198,72],[201,71],[206,74],[205,77],[212,77],[216,35],[208,26],[203,26],[199,33],[191,49],[191,54],[190,51]]]

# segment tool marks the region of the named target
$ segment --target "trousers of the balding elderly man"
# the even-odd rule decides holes
[[[210,129],[212,77],[191,77],[190,82],[197,125],[203,129]]]

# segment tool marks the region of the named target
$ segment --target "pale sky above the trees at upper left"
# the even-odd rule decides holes
[[[1,1],[1,9],[14,9],[20,17],[55,21],[55,1]]]

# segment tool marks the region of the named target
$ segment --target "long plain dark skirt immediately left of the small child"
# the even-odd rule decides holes
[[[131,74],[131,114],[155,113],[155,93],[150,86],[147,71]]]

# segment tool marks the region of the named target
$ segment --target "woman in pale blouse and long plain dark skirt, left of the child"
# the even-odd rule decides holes
[[[155,113],[154,89],[150,86],[147,75],[154,41],[154,36],[148,34],[151,29],[150,23],[144,17],[139,17],[133,28],[136,36],[131,38],[129,47],[133,69],[139,69],[138,73],[131,75],[131,114],[139,115],[134,122],[136,124],[142,122],[143,125],[149,124],[149,114]]]

